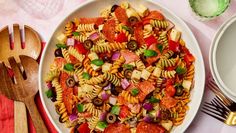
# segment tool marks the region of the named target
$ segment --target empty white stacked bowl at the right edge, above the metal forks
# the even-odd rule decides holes
[[[236,102],[236,15],[215,35],[210,50],[212,75],[221,91]]]

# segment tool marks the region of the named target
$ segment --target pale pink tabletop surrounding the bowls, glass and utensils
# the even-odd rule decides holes
[[[62,19],[84,1],[85,0],[0,0],[0,29],[14,23],[27,24],[38,31],[42,39],[47,42],[53,30]],[[192,15],[188,8],[188,0],[155,1],[182,18],[193,31],[204,57],[207,77],[210,76],[208,55],[211,41],[222,23],[236,14],[236,1],[232,0],[229,9],[222,16],[207,22],[198,21]],[[212,97],[212,92],[206,88],[203,101],[209,101]],[[235,133],[236,127],[227,126],[202,112],[198,112],[186,132],[208,133],[209,131],[213,133]]]

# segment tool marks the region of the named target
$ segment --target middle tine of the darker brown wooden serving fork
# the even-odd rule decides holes
[[[11,68],[14,71],[14,77],[16,78],[16,81],[17,82],[23,81],[24,79],[23,79],[22,73],[20,71],[19,65],[17,64],[16,60],[13,57],[10,57],[8,60],[11,65]]]

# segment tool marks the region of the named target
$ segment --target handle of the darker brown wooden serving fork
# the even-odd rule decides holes
[[[27,109],[29,110],[30,116],[33,120],[34,127],[36,129],[37,133],[48,133],[48,130],[43,122],[42,117],[40,116],[37,106],[34,102],[34,96],[25,99],[25,105]]]

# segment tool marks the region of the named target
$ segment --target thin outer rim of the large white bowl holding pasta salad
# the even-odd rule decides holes
[[[59,126],[54,122],[54,119],[52,118],[52,116],[50,115],[49,113],[49,110],[48,108],[46,107],[46,103],[44,101],[44,98],[43,98],[43,92],[42,92],[42,69],[43,69],[43,59],[45,58],[45,55],[46,55],[46,49],[48,49],[49,47],[49,43],[51,42],[52,40],[52,37],[53,35],[55,34],[56,30],[59,28],[59,26],[73,13],[77,12],[77,10],[79,10],[80,8],[82,8],[83,6],[86,6],[92,2],[94,2],[96,0],[89,0],[89,1],[86,1],[86,2],[83,2],[81,3],[76,9],[72,10],[64,19],[61,20],[60,23],[58,23],[58,25],[56,26],[56,28],[54,29],[53,33],[51,34],[50,36],[50,39],[48,40],[48,42],[46,43],[45,47],[44,47],[44,50],[42,52],[42,56],[41,56],[41,60],[40,60],[40,65],[39,65],[39,95],[40,95],[40,98],[41,98],[41,101],[42,101],[42,104],[43,104],[43,107],[44,107],[44,110],[49,118],[49,120],[51,121],[51,123],[53,124],[53,126],[56,128],[56,130],[58,132],[61,132]],[[115,0],[114,0],[115,1]],[[196,118],[196,115],[198,113],[198,111],[200,110],[200,104],[202,102],[202,99],[203,99],[203,95],[204,95],[204,88],[205,88],[205,64],[204,64],[204,60],[203,60],[203,55],[202,55],[202,52],[201,52],[201,49],[200,49],[200,46],[199,46],[199,43],[198,41],[196,40],[196,37],[194,36],[193,32],[191,31],[191,29],[189,28],[189,26],[185,23],[184,20],[182,20],[180,17],[178,17],[177,15],[175,15],[175,13],[171,10],[169,10],[168,8],[166,8],[164,5],[161,5],[159,4],[158,2],[155,2],[155,1],[152,1],[152,0],[147,0],[148,2],[150,3],[153,3],[154,5],[158,5],[161,9],[164,9],[165,11],[167,11],[170,15],[172,15],[174,18],[176,18],[176,20],[178,22],[181,23],[181,25],[183,25],[183,27],[185,27],[185,30],[187,33],[189,33],[189,36],[192,38],[193,40],[193,43],[196,44],[196,53],[198,53],[200,56],[198,58],[198,62],[199,62],[199,66],[201,68],[203,68],[201,71],[202,71],[202,77],[204,77],[204,79],[202,79],[202,84],[199,84],[198,87],[199,88],[202,88],[202,89],[199,89],[198,91],[201,90],[201,92],[199,92],[200,96],[198,97],[199,100],[195,101],[196,104],[195,107],[198,107],[197,109],[193,110],[192,114],[190,115],[190,118],[189,120],[185,123],[185,128],[182,129],[180,132],[185,132],[189,125],[193,122],[193,120]],[[194,87],[195,88],[195,87]]]

